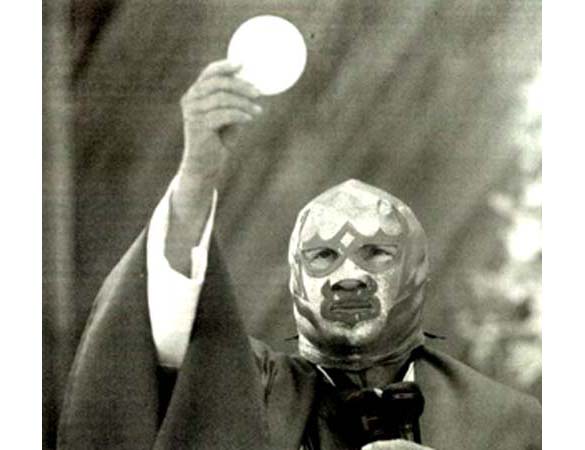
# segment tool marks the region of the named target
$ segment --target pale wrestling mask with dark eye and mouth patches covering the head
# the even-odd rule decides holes
[[[396,197],[357,180],[319,195],[298,215],[289,263],[309,361],[359,370],[422,343],[426,236]]]

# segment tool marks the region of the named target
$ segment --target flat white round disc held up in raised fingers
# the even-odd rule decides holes
[[[242,64],[238,77],[264,95],[280,94],[301,77],[307,63],[307,46],[300,31],[277,16],[256,16],[233,34],[228,59]]]

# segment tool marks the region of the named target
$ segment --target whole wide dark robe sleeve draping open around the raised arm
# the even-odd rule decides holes
[[[262,376],[212,240],[193,328],[166,413],[147,304],[142,233],[104,282],[73,364],[62,449],[264,449]]]

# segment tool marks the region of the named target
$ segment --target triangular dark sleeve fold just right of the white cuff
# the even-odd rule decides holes
[[[262,374],[212,240],[191,343],[155,448],[265,449]]]

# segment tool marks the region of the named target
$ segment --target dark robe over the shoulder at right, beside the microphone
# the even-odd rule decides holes
[[[425,396],[422,421],[428,434],[458,435],[464,442],[461,448],[540,448],[542,408],[534,397],[428,347],[415,370]],[[439,441],[438,448],[451,444]]]

